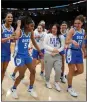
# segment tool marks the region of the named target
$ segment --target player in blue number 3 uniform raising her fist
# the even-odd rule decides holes
[[[35,69],[32,67],[32,58],[30,57],[28,53],[28,44],[30,42],[30,39],[32,40],[33,45],[37,48],[38,52],[42,55],[41,50],[37,46],[35,40],[34,40],[34,22],[30,17],[22,16],[20,17],[20,20],[17,22],[18,28],[16,30],[16,37],[18,40],[16,41],[16,47],[15,47],[15,66],[18,67],[19,76],[16,78],[13,87],[11,88],[12,97],[18,98],[17,95],[17,86],[19,85],[20,81],[24,78],[24,74],[26,71],[26,68],[30,70],[30,85],[28,88],[28,92],[33,97],[37,97],[36,92],[33,89],[33,84],[35,80]],[[20,29],[20,26],[22,29]],[[26,65],[26,68],[25,68]]]

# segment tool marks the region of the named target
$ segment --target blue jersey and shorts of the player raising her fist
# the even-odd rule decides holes
[[[16,66],[24,66],[25,64],[31,63],[32,58],[28,52],[28,45],[30,42],[31,32],[28,35],[22,30],[21,37],[16,41],[14,62]]]

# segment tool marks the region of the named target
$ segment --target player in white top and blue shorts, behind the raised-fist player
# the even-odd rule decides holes
[[[45,34],[43,32],[43,27],[42,27],[42,25],[39,24],[38,27],[37,27],[37,31],[34,31],[34,38],[35,38],[35,41],[38,44],[38,46],[40,47],[41,52],[43,54],[44,54],[44,45],[43,45],[44,37],[45,37]],[[38,58],[40,59],[40,62],[41,62],[41,73],[40,73],[40,75],[44,76],[43,57],[41,57],[39,55],[39,52],[38,52],[38,50],[36,50],[35,47],[33,47],[32,57],[33,57],[33,66],[34,66],[34,68],[36,67],[37,59]]]

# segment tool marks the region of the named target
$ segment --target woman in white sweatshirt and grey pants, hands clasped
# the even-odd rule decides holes
[[[52,32],[46,35],[44,39],[44,68],[45,68],[45,79],[46,79],[46,87],[51,89],[52,86],[50,84],[50,74],[52,68],[55,70],[55,88],[57,91],[61,91],[59,82],[61,76],[61,67],[62,67],[62,56],[59,54],[64,50],[65,39],[64,36],[60,33],[60,27],[58,24],[54,24],[52,26]]]

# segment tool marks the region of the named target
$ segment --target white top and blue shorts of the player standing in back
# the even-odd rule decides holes
[[[38,44],[38,46],[40,47],[41,49],[41,52],[44,54],[44,45],[43,45],[43,41],[44,41],[44,37],[45,37],[46,33],[44,32],[41,32],[41,34],[38,32],[38,31],[34,31],[34,37],[37,37],[37,36],[40,36],[40,38],[35,38],[35,41],[36,43]],[[33,52],[32,52],[32,57],[33,58],[42,58],[40,55],[39,55],[39,52],[38,50],[36,50],[35,47],[33,47]]]

